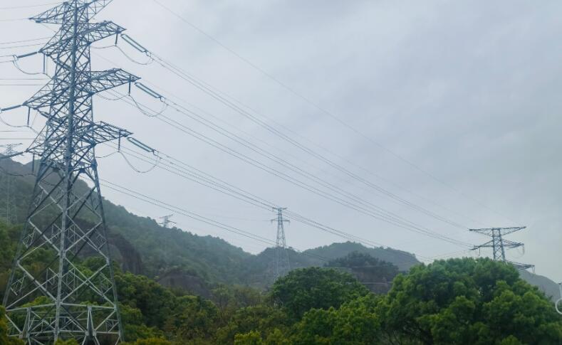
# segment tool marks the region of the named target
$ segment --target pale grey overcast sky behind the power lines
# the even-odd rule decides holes
[[[182,99],[178,101],[182,105],[189,102],[190,109],[199,107],[200,114],[209,112],[222,125],[268,152],[435,233],[476,245],[486,238],[469,233],[467,228],[526,225],[525,230],[509,236],[524,242],[526,250],[510,250],[509,260],[535,264],[538,274],[562,280],[560,1],[159,1],[340,121],[281,87],[153,0],[115,0],[96,20],[124,26],[142,46],[251,107],[258,116],[274,120],[266,121],[308,149],[462,227],[390,200],[274,137],[157,63],[139,65],[117,49],[106,48],[93,51],[94,70],[124,68],[161,87],[162,95],[174,95]],[[42,2],[4,0],[0,4]],[[47,27],[36,23],[4,21],[47,8],[2,9],[0,42],[50,36]],[[113,41],[108,38],[95,46],[110,46]],[[0,45],[0,55],[39,48],[11,48],[21,45],[26,43]],[[133,60],[147,61],[123,41],[120,46]],[[27,72],[38,72],[41,59],[28,58],[20,65]],[[20,73],[10,63],[0,63],[0,76],[41,78]],[[1,107],[21,104],[39,88],[6,86],[11,83],[46,81],[0,80]],[[160,109],[157,100],[139,90],[133,90],[133,95]],[[175,110],[164,114],[303,179]],[[208,118],[219,123],[211,115]],[[23,109],[3,115],[11,124],[23,124],[25,117]],[[150,147],[291,211],[410,251],[420,260],[478,255],[317,196],[146,117],[123,101],[96,97],[95,119],[125,127]],[[34,127],[40,129],[41,120],[36,120]],[[0,130],[14,129],[0,124]],[[0,144],[26,142],[19,138],[31,136],[31,132],[4,132]],[[98,149],[99,156],[111,152],[108,147]],[[135,159],[130,163],[139,170],[150,168]],[[274,216],[272,212],[162,169],[138,174],[117,154],[100,159],[99,170],[103,179],[115,184],[275,239],[275,225],[268,221]],[[142,216],[157,218],[170,213],[109,189],[103,189],[103,194]],[[263,243],[179,214],[173,220],[184,230],[222,237],[251,253],[264,249]],[[288,245],[298,249],[343,240],[297,222],[288,225],[286,236]],[[490,254],[489,250],[481,253]]]

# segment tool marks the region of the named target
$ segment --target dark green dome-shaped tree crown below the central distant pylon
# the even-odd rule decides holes
[[[293,270],[277,280],[271,299],[286,310],[289,317],[301,319],[308,310],[338,308],[341,304],[369,291],[352,275],[318,267]]]

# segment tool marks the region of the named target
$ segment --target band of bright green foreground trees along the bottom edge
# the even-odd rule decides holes
[[[261,294],[219,286],[211,299],[117,272],[126,345],[560,344],[562,318],[511,266],[452,259],[413,267],[390,292],[352,275],[291,271]],[[0,310],[0,316],[3,316]],[[0,344],[21,344],[5,337]],[[4,337],[4,338],[3,338]],[[63,343],[66,344],[66,343]]]

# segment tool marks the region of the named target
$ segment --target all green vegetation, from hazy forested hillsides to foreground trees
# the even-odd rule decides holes
[[[15,197],[25,198],[31,182],[14,179]],[[562,344],[562,317],[509,265],[415,265],[397,250],[338,243],[291,251],[295,269],[271,282],[271,250],[250,255],[105,204],[125,345]],[[20,232],[0,221],[0,294]],[[35,270],[53,260],[48,250],[35,255],[25,263]],[[0,345],[23,344],[7,328],[0,309]]]

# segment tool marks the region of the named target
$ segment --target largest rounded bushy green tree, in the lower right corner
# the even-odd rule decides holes
[[[387,339],[422,344],[558,344],[562,319],[514,267],[439,260],[395,278],[377,309]]]

